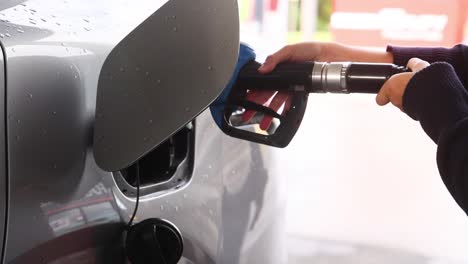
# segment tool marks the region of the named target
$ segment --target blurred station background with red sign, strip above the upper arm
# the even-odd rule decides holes
[[[289,43],[451,46],[468,38],[468,0],[239,0],[243,28]]]

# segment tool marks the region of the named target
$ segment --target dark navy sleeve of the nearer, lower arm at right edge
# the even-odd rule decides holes
[[[437,165],[447,189],[468,214],[468,92],[454,67],[436,62],[411,78],[404,111],[437,143]]]

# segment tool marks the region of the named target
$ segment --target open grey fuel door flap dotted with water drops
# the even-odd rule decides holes
[[[94,155],[119,171],[216,99],[239,49],[235,0],[172,0],[125,37],[99,77]]]

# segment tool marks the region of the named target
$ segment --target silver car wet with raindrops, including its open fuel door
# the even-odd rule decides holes
[[[2,0],[0,19],[3,263],[286,262],[270,150],[206,110],[237,1]]]

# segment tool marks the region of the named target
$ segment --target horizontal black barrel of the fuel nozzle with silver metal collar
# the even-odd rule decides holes
[[[255,61],[245,65],[237,78],[238,89],[307,93],[378,93],[392,75],[407,68],[387,63],[303,62],[278,65],[260,74]]]

